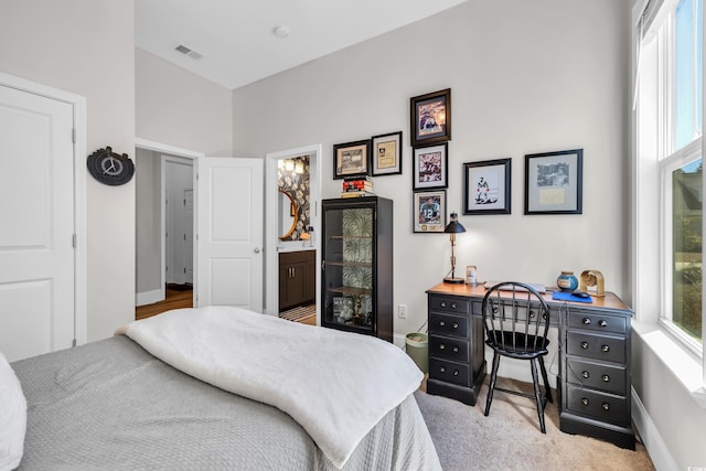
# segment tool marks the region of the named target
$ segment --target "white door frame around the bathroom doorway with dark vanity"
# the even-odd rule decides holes
[[[314,227],[314,249],[317,250],[317,267],[321,267],[321,250],[319,244],[319,206],[321,202],[321,168],[322,162],[321,143],[303,146],[295,149],[287,149],[277,152],[269,152],[265,156],[265,214],[277,214],[277,161],[280,159],[292,159],[300,156],[309,156],[310,182],[310,222]],[[279,315],[279,234],[277,232],[277,217],[267,217],[265,223],[265,309],[264,313]],[[317,269],[317,279],[319,270]],[[317,281],[315,302],[321,299],[321,283]],[[320,324],[320,309],[317,309],[317,324]]]

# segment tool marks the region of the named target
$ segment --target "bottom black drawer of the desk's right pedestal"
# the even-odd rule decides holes
[[[567,387],[566,408],[584,417],[593,417],[601,421],[627,427],[629,398],[569,385]]]

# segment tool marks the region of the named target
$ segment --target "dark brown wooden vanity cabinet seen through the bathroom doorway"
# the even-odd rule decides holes
[[[313,302],[317,253],[314,250],[279,254],[279,311]]]

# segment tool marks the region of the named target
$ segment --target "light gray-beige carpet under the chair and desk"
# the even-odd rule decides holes
[[[499,378],[502,387],[525,392],[531,385]],[[644,447],[624,450],[592,438],[564,433],[554,404],[545,410],[547,433],[539,430],[534,402],[496,392],[483,416],[488,378],[475,406],[415,393],[445,471],[467,470],[654,470]]]

